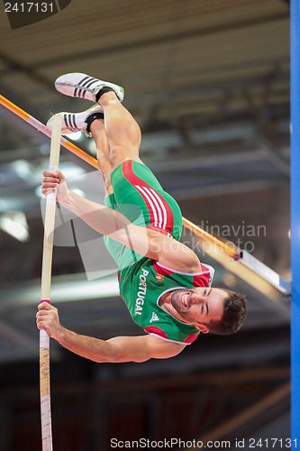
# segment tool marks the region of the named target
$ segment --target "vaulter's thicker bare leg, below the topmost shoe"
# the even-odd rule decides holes
[[[130,112],[112,91],[103,94],[98,103],[105,112],[105,131],[112,170],[124,160],[141,161],[139,158],[141,129]],[[92,133],[94,135],[93,130]]]

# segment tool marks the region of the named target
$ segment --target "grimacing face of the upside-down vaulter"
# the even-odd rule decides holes
[[[207,332],[210,321],[220,321],[223,318],[223,304],[226,298],[228,293],[225,290],[194,288],[175,290],[170,300],[184,321]]]

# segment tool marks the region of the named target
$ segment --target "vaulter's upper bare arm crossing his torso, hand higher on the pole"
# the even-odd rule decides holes
[[[44,171],[42,193],[57,189],[60,204],[83,219],[97,232],[131,247],[152,260],[181,272],[199,272],[201,265],[196,254],[185,244],[145,227],[132,224],[125,216],[104,205],[82,198],[67,188],[59,171]]]

